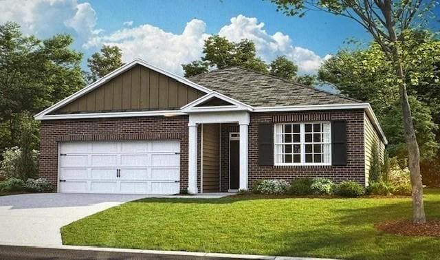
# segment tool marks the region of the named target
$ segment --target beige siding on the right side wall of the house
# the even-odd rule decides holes
[[[369,175],[371,168],[371,160],[373,158],[373,149],[375,149],[374,144],[376,143],[379,148],[379,159],[381,162],[384,161],[385,144],[380,139],[377,131],[373,127],[371,120],[364,113],[364,151],[365,151],[365,184],[369,184]]]

